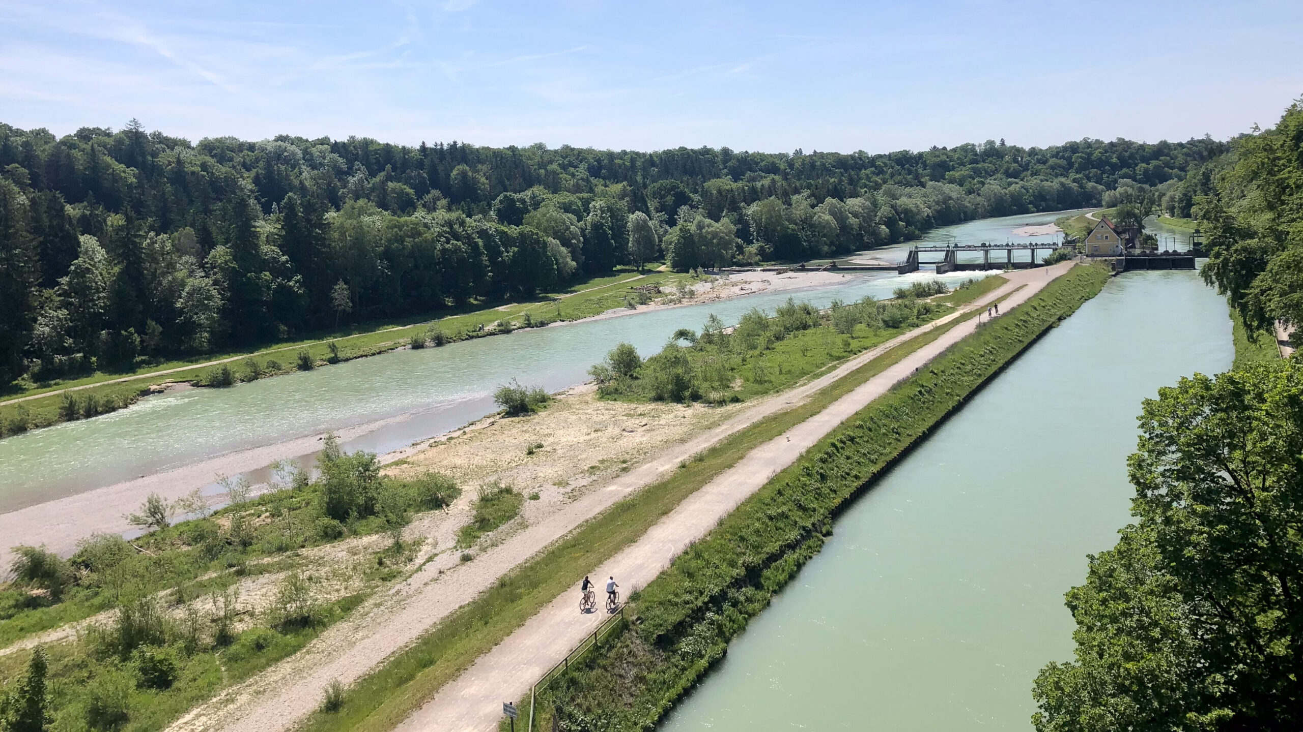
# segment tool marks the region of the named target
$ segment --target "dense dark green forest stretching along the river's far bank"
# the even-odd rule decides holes
[[[801,260],[1162,198],[1225,150],[616,152],[0,125],[0,384],[525,297],[620,264]]]

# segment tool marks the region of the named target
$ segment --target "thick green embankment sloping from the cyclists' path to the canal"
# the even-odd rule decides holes
[[[554,709],[562,729],[652,728],[818,554],[840,511],[1108,277],[1074,268],[810,448],[631,598],[633,625],[546,689],[537,728],[554,728]]]

